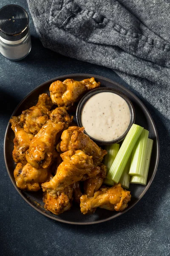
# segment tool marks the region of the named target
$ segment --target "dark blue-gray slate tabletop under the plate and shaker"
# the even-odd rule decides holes
[[[23,0],[1,0],[0,7]],[[6,125],[17,104],[42,82],[71,73],[94,73],[125,84],[104,67],[66,58],[42,47],[31,21],[31,53],[20,62],[0,55],[0,255],[168,256],[170,255],[170,121],[138,95],[159,132],[156,177],[142,200],[121,217],[91,226],[52,221],[35,211],[14,189],[3,160]]]

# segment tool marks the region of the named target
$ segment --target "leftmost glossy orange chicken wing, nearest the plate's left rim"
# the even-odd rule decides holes
[[[12,157],[15,163],[26,164],[26,151],[29,148],[31,140],[33,139],[33,134],[28,134],[22,128],[20,123],[20,117],[12,116],[10,119],[11,128],[14,131],[14,150],[12,152]]]

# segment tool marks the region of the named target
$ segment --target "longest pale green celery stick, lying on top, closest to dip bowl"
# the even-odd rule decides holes
[[[111,169],[108,172],[107,178],[113,180],[118,183],[120,177],[122,176],[122,172],[125,169],[127,160],[132,153],[133,147],[136,144],[136,141],[139,139],[143,131],[143,127],[139,125],[133,124],[128,131],[124,142],[122,143],[118,154],[111,166]]]

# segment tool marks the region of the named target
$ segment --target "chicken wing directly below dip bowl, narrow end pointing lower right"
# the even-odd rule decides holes
[[[100,148],[93,140],[84,134],[83,127],[70,126],[67,130],[63,131],[61,139],[60,148],[62,152],[70,149],[83,150],[86,154],[93,157],[96,166],[102,162],[103,157],[107,154],[106,150]]]

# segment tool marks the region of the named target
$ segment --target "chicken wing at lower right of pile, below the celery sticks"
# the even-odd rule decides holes
[[[87,195],[82,195],[80,198],[80,208],[83,214],[95,212],[97,207],[108,209],[110,211],[123,211],[130,201],[130,191],[121,187],[121,184],[116,184],[111,188],[101,188],[94,193],[93,198]]]

